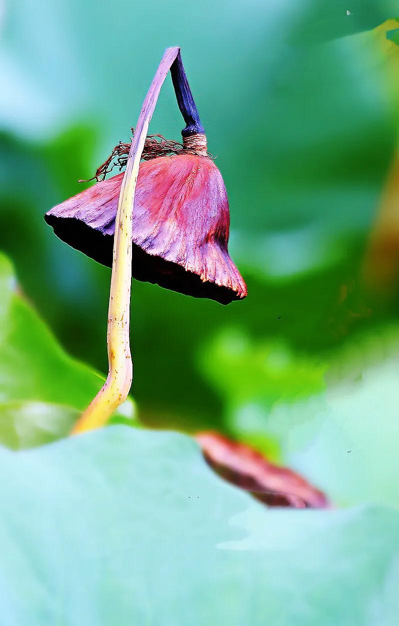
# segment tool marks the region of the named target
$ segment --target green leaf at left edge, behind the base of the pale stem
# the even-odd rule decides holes
[[[64,436],[103,379],[63,351],[1,254],[0,294],[0,441],[19,448]],[[116,418],[133,415],[128,400]]]

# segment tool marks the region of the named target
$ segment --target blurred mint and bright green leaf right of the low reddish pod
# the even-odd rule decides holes
[[[326,372],[323,362],[231,329],[199,364],[236,439],[296,468],[337,505],[398,507],[398,351],[397,324],[375,329],[331,356]]]

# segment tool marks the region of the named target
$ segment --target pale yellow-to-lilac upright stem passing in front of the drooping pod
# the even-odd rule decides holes
[[[153,116],[163,81],[178,53],[179,48],[168,48],[165,51],[141,108],[130,146],[116,213],[108,309],[108,377],[101,391],[74,426],[74,434],[106,424],[130,391],[133,380],[129,321],[134,192],[149,121]]]

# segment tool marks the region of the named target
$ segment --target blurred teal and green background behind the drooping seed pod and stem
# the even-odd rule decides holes
[[[56,239],[43,214],[128,140],[164,48],[181,46],[248,298],[223,307],[134,282],[139,417],[253,443],[341,504],[399,503],[396,4],[19,0],[1,11],[0,249],[24,301],[66,352],[106,373],[110,271]],[[179,140],[182,127],[167,80],[150,130]],[[21,351],[33,349],[27,328]],[[4,374],[16,352],[2,346]],[[15,367],[32,374],[24,359]],[[34,384],[29,394],[43,400]],[[51,402],[81,410],[73,387],[64,396]]]

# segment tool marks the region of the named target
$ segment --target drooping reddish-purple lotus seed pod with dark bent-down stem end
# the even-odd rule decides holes
[[[182,294],[228,304],[246,285],[228,254],[230,213],[221,173],[207,153],[206,136],[181,59],[171,69],[187,125],[183,146],[148,138],[134,197],[132,275]],[[116,146],[113,155],[128,153]],[[158,156],[161,155],[161,156]],[[96,178],[107,173],[111,158]],[[59,239],[112,266],[113,235],[123,173],[102,180],[45,215]]]

